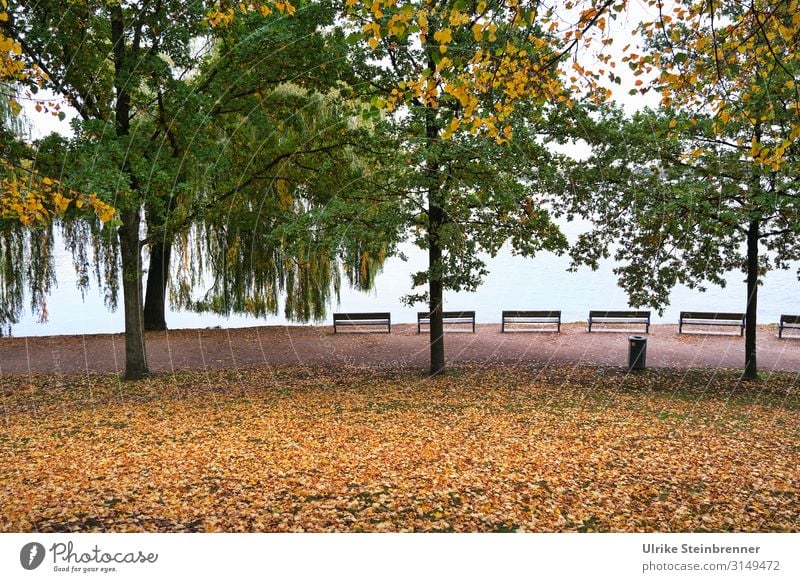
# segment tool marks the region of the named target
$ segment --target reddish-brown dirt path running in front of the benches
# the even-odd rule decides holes
[[[500,333],[479,325],[472,333],[447,333],[449,363],[625,366],[632,332],[586,332],[580,323],[561,333]],[[738,335],[678,335],[675,325],[650,328],[647,365],[680,368],[741,368],[744,339]],[[0,338],[0,374],[122,372],[122,335]],[[330,326],[270,326],[242,329],[183,329],[147,334],[151,369],[236,369],[254,366],[365,366],[425,369],[428,344],[414,325],[392,333],[333,333]],[[762,371],[800,372],[800,339],[778,339],[759,328]]]

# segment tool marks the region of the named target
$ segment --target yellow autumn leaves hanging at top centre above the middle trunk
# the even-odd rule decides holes
[[[597,83],[598,74],[575,59],[566,66],[569,72],[552,73],[561,68],[565,55],[578,49],[591,54],[608,44],[603,38],[606,23],[624,6],[607,0],[346,0],[345,14],[357,31],[354,36],[366,41],[376,56],[390,55],[394,67],[405,64],[394,56],[398,46],[418,46],[428,55],[385,98],[377,99],[377,106],[391,112],[415,104],[437,109],[449,102],[454,113],[444,139],[461,130],[504,143],[513,134],[509,117],[521,102],[571,107],[571,92],[608,96]],[[491,110],[485,107],[487,100]]]

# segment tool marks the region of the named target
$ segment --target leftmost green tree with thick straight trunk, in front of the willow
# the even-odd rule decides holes
[[[141,209],[148,196],[140,152],[147,139],[132,132],[152,112],[162,83],[186,65],[191,42],[206,32],[202,2],[11,2],[3,33],[44,73],[44,86],[63,95],[80,116],[79,136],[94,143],[95,172],[74,179],[117,210],[125,313],[125,376],[148,373],[142,318]],[[178,26],[175,22],[181,21]],[[148,170],[156,170],[148,168]],[[73,177],[70,176],[72,179]]]

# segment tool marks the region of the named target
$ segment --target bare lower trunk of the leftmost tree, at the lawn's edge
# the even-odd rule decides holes
[[[142,253],[139,247],[139,212],[126,210],[119,227],[122,258],[122,298],[125,310],[125,379],[138,380],[149,374],[144,344],[142,309]]]

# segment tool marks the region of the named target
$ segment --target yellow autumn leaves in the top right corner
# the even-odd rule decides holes
[[[651,46],[629,52],[638,75],[651,76],[662,105],[711,113],[713,132],[756,167],[787,171],[800,138],[800,3],[650,0],[656,17],[641,24]],[[644,85],[642,80],[637,85]],[[675,120],[673,127],[682,128]],[[698,148],[687,158],[704,154]],[[790,155],[792,154],[792,155]]]

